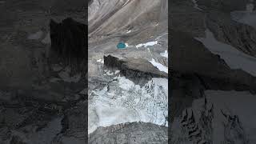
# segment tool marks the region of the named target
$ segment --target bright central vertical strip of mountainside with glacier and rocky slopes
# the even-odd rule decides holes
[[[90,143],[167,142],[167,7],[166,0],[90,3]]]

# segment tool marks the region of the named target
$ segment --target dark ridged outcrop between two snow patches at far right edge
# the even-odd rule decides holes
[[[207,28],[220,42],[225,42],[245,54],[256,56],[256,30],[253,26],[235,22],[230,14],[211,12],[206,18]]]

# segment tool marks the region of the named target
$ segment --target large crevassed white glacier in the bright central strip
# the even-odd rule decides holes
[[[125,122],[152,122],[168,126],[168,80],[153,78],[145,86],[118,77],[102,90],[93,90],[89,101],[89,130]]]

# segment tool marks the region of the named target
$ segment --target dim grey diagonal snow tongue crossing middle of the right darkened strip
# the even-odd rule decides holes
[[[256,58],[244,54],[233,46],[218,42],[210,30],[206,30],[206,38],[196,38],[213,54],[218,54],[231,69],[242,69],[256,76]]]

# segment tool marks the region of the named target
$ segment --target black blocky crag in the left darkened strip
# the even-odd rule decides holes
[[[86,25],[72,18],[66,18],[61,23],[50,20],[51,48],[67,60],[75,59],[79,62],[86,58],[86,34]]]

